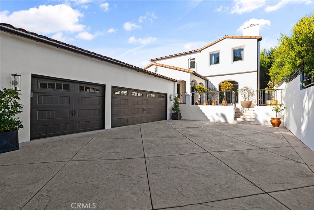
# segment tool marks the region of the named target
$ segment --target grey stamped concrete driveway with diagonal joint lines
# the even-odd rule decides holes
[[[1,154],[1,209],[314,209],[314,153],[284,127],[160,121]]]

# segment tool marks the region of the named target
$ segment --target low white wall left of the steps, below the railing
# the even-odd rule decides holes
[[[180,105],[183,120],[200,120],[211,122],[234,122],[234,107],[228,106],[190,106]]]

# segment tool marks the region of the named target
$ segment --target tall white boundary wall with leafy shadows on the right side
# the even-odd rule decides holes
[[[284,127],[314,151],[314,86],[302,88],[302,74],[286,84]]]

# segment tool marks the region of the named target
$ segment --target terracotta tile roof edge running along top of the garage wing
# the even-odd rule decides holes
[[[91,52],[91,51],[88,51],[88,50],[84,50],[84,49],[82,49],[82,48],[78,48],[78,47],[75,47],[75,46],[73,46],[73,45],[70,45],[70,44],[67,44],[67,43],[63,43],[63,42],[57,41],[57,40],[55,40],[55,39],[51,39],[51,38],[48,38],[48,37],[43,36],[43,35],[38,35],[37,33],[34,33],[34,32],[26,31],[26,30],[23,29],[23,28],[15,28],[15,27],[12,26],[11,24],[0,23],[0,26],[1,26],[1,30],[2,30],[2,31],[8,31],[7,29],[5,30],[5,27],[8,27],[8,28],[14,29],[13,31],[16,31],[17,33],[24,33],[24,34],[32,35],[32,36],[35,36],[35,37],[38,37],[38,38],[39,38],[39,39],[35,39],[35,38],[32,37],[32,36],[27,36],[27,38],[30,38],[30,39],[35,39],[35,40],[38,40],[38,41],[40,41],[40,39],[45,39],[45,40],[48,40],[49,42],[51,42],[51,43],[49,43],[49,42],[44,42],[44,43],[46,43],[46,44],[51,44],[51,45],[52,45],[52,42],[53,42],[53,43],[55,43],[55,44],[57,44],[57,45],[60,45],[60,47],[61,47],[61,46],[66,46],[66,47],[69,47],[69,48],[76,49],[78,53],[81,51],[81,52],[82,52],[81,54],[83,54],[83,55],[86,55],[86,54],[84,54],[84,53],[88,53],[88,54],[90,54],[90,55],[93,55],[94,58],[96,58],[96,59],[111,60],[111,61],[113,61],[113,62],[110,61],[111,63],[117,64],[117,65],[121,65],[121,66],[126,65],[126,66],[129,66],[129,67],[133,68],[133,70],[141,71],[141,72],[143,72],[143,73],[147,73],[147,74],[152,75],[152,76],[154,76],[154,77],[160,77],[160,78],[162,78],[162,79],[170,80],[170,81],[173,81],[173,82],[176,82],[176,81],[177,81],[176,79],[173,79],[173,78],[170,78],[170,77],[165,77],[165,76],[163,76],[163,75],[156,74],[156,73],[151,72],[151,71],[147,71],[147,70],[142,69],[142,68],[139,68],[139,67],[137,67],[137,66],[124,63],[124,62],[122,62],[122,61],[120,61],[120,60],[112,59],[112,58],[110,58],[110,57],[103,56],[103,55],[101,55],[101,54],[96,54],[96,53],[94,53],[94,52]],[[5,27],[3,27],[3,26],[5,26]],[[13,31],[12,31],[12,32],[13,32]],[[24,36],[24,37],[25,37],[25,36]],[[42,41],[43,41],[43,40],[42,40]],[[64,47],[62,47],[62,48],[64,48]],[[84,53],[83,53],[83,52],[84,52]],[[87,55],[87,56],[88,56],[88,55]],[[108,61],[108,62],[109,62],[109,61]],[[126,67],[126,66],[123,66],[123,67]]]

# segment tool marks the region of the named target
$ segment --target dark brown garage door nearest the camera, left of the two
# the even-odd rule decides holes
[[[31,139],[104,127],[104,85],[33,76],[31,91]]]

